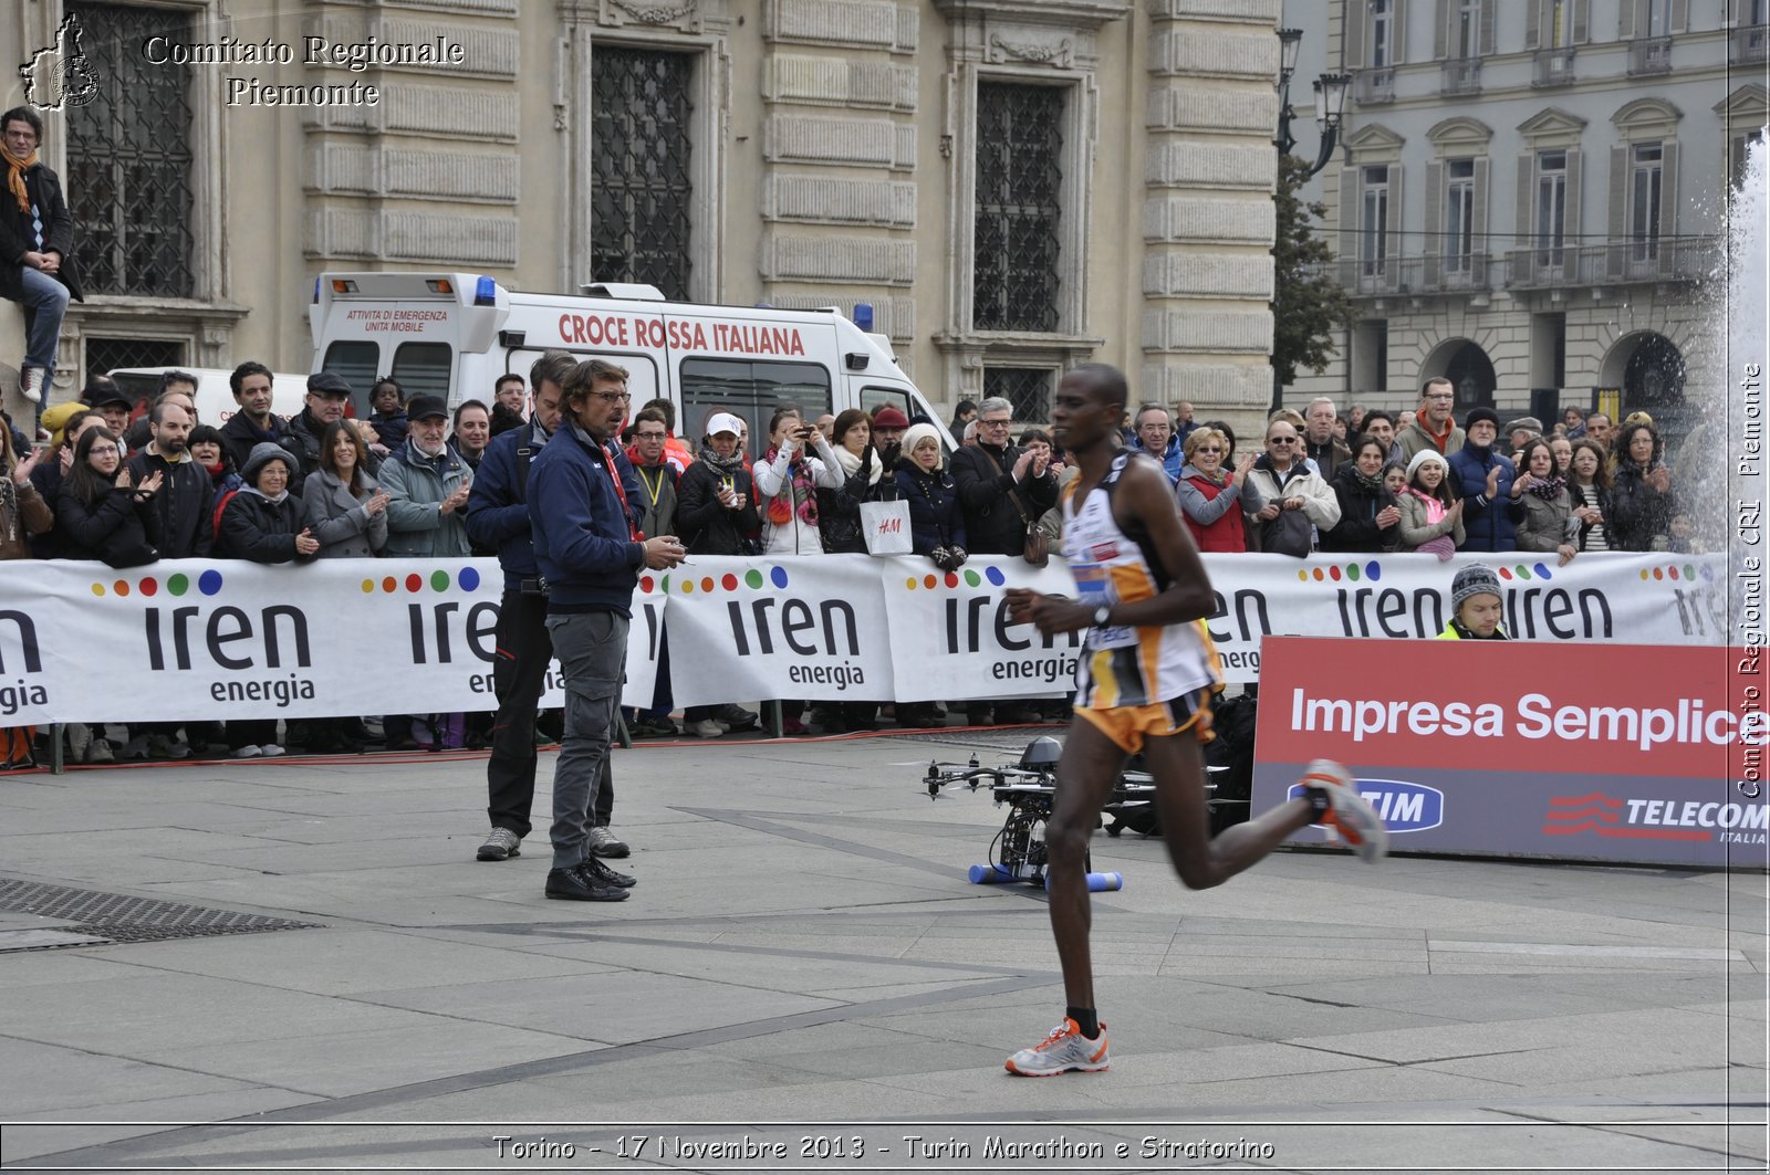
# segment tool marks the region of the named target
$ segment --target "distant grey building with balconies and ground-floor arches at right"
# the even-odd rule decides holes
[[[1722,391],[1726,193],[1761,136],[1756,0],[1292,2],[1303,80],[1352,74],[1328,205],[1354,324],[1287,402],[1646,409]]]

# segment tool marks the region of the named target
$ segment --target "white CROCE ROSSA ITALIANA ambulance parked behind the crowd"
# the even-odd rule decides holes
[[[650,285],[591,285],[581,296],[506,290],[460,273],[326,273],[315,280],[315,370],[336,372],[368,416],[368,391],[391,375],[407,396],[492,402],[497,377],[547,350],[602,357],[628,370],[634,411],[676,405],[676,435],[697,446],[713,412],[750,425],[752,457],[784,403],[805,419],[896,405],[940,423],[897,368],[890,342],[837,310],[759,310],[671,303]],[[942,428],[945,442],[945,430]]]

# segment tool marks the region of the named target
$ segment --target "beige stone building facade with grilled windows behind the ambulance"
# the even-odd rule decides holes
[[[1028,419],[1090,359],[1200,416],[1269,396],[1280,0],[41,0],[0,41],[65,14],[99,97],[46,154],[101,280],[57,400],[131,363],[306,370],[327,269],[866,304],[933,402]],[[262,101],[349,85],[379,101]]]

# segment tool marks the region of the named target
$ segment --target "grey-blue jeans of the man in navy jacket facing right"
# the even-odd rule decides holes
[[[627,628],[628,619],[618,612],[547,618],[547,635],[565,672],[565,738],[554,764],[554,869],[572,869],[589,856],[591,809],[627,672]]]

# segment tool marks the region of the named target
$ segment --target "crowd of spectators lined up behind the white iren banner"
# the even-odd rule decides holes
[[[280,419],[269,411],[271,380],[264,365],[241,365],[230,380],[237,411],[219,428],[196,419],[196,380],[182,372],[163,377],[136,421],[127,398],[94,377],[80,403],[41,414],[39,446],[23,446],[7,426],[0,557],[119,568],[204,556],[267,564],[504,557],[508,540],[485,503],[520,476],[504,467],[519,460],[513,455],[550,434],[549,414],[527,411],[520,375],[501,377],[490,403],[466,400],[453,412],[437,396],[407,396],[396,380],[381,379],[368,419],[349,416],[352,389],[327,372],[312,375],[303,409]],[[674,403],[653,400],[627,416],[618,455],[635,533],[676,534],[690,556],[867,552],[874,503],[903,511],[908,552],[942,570],[974,554],[1039,559],[1062,536],[1060,485],[1074,469],[1044,430],[1012,435],[1007,400],[961,402],[949,425],[912,419],[894,405],[816,419],[782,405],[754,460],[743,418],[715,412],[703,428],[680,437]],[[494,449],[492,439],[512,430],[533,437],[524,432],[506,451]],[[950,457],[942,434],[952,437]],[[1458,423],[1444,380],[1427,380],[1412,412],[1354,407],[1343,419],[1328,398],[1301,412],[1278,409],[1258,444],[1241,453],[1227,423],[1195,421],[1191,405],[1143,405],[1127,414],[1124,442],[1161,465],[1193,540],[1212,554],[1448,559],[1458,550],[1528,550],[1565,564],[1586,550],[1683,550],[1692,533],[1644,414],[1612,426],[1604,414],[1570,409],[1545,432],[1533,418],[1501,428],[1492,409],[1476,407]],[[489,451],[503,457],[483,467],[492,495],[478,497],[473,487]],[[485,513],[478,522],[476,501]],[[627,711],[635,736],[713,738],[758,726],[756,713],[727,703],[689,708],[678,727],[667,644],[660,657],[657,697]],[[805,703],[781,704],[788,733],[873,729],[887,715],[908,727],[943,722],[936,703],[894,706],[889,697],[809,713]],[[972,724],[1035,720],[1058,706],[965,703]],[[234,756],[258,757],[283,754],[283,741],[361,750],[373,738],[393,749],[483,745],[490,724],[458,713],[384,715],[379,734],[358,717],[296,722],[287,734],[274,722],[228,722],[225,733],[219,724],[143,724],[120,747],[76,731],[71,749],[80,761],[103,763],[182,757],[225,741]]]

